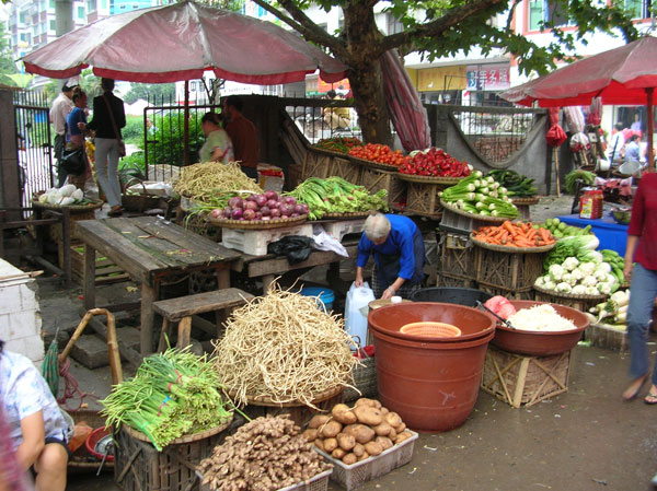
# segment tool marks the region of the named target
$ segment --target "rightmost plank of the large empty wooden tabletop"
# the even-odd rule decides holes
[[[205,254],[215,257],[214,260],[235,260],[240,254],[233,249],[223,247],[207,237],[191,232],[180,225],[171,222],[164,222],[157,217],[139,217],[132,219],[138,226],[150,234],[177,245],[180,248],[187,248],[198,254]],[[205,259],[207,261],[207,259]]]

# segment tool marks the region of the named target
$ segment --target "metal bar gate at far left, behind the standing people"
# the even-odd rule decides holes
[[[19,194],[28,206],[32,195],[55,185],[48,101],[45,94],[16,92],[14,118],[19,160]]]

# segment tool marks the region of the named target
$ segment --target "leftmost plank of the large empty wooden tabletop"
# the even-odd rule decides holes
[[[116,219],[113,219],[116,220]],[[165,267],[126,237],[107,227],[106,220],[84,221],[78,225],[85,244],[107,256],[138,282],[150,281],[149,271]],[[95,257],[93,258],[95,260]]]

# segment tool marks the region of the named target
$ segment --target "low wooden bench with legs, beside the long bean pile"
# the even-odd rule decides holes
[[[251,293],[237,288],[229,288],[153,302],[153,311],[164,317],[160,342],[158,343],[158,352],[164,351],[166,348],[164,336],[170,335],[173,323],[178,323],[177,347],[184,348],[191,341],[193,315],[239,307],[244,305],[250,299],[253,299]]]

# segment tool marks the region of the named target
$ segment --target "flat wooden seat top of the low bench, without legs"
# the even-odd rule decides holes
[[[154,302],[153,309],[170,320],[178,320],[195,314],[237,307],[251,299],[253,299],[251,293],[237,288],[229,288]]]

